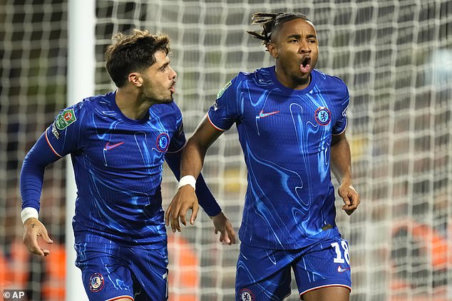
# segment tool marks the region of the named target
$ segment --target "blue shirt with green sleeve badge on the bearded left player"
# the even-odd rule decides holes
[[[163,162],[185,145],[183,118],[174,102],[153,105],[130,120],[115,93],[88,97],[62,110],[46,130],[58,157],[71,154],[77,185],[76,242],[148,245],[166,242]]]

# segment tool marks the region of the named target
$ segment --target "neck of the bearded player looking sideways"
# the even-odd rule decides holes
[[[123,115],[132,120],[143,119],[151,105],[142,101],[137,90],[130,88],[118,88],[115,101]]]

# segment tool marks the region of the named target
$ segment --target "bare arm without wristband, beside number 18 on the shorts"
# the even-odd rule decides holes
[[[337,181],[339,181],[338,194],[344,200],[342,209],[350,215],[358,208],[360,200],[359,194],[351,181],[350,145],[345,132],[332,137],[331,169]]]

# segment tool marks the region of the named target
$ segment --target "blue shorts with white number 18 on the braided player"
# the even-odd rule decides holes
[[[300,296],[330,286],[351,291],[349,245],[340,236],[296,250],[269,250],[241,243],[236,300],[284,300],[291,293],[291,269]]]

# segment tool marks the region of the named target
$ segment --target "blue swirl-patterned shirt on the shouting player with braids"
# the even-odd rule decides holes
[[[239,236],[262,248],[303,248],[337,233],[330,174],[333,134],[346,128],[344,82],[313,70],[303,90],[284,87],[274,66],[239,73],[210,107],[218,130],[235,123],[247,164]]]

